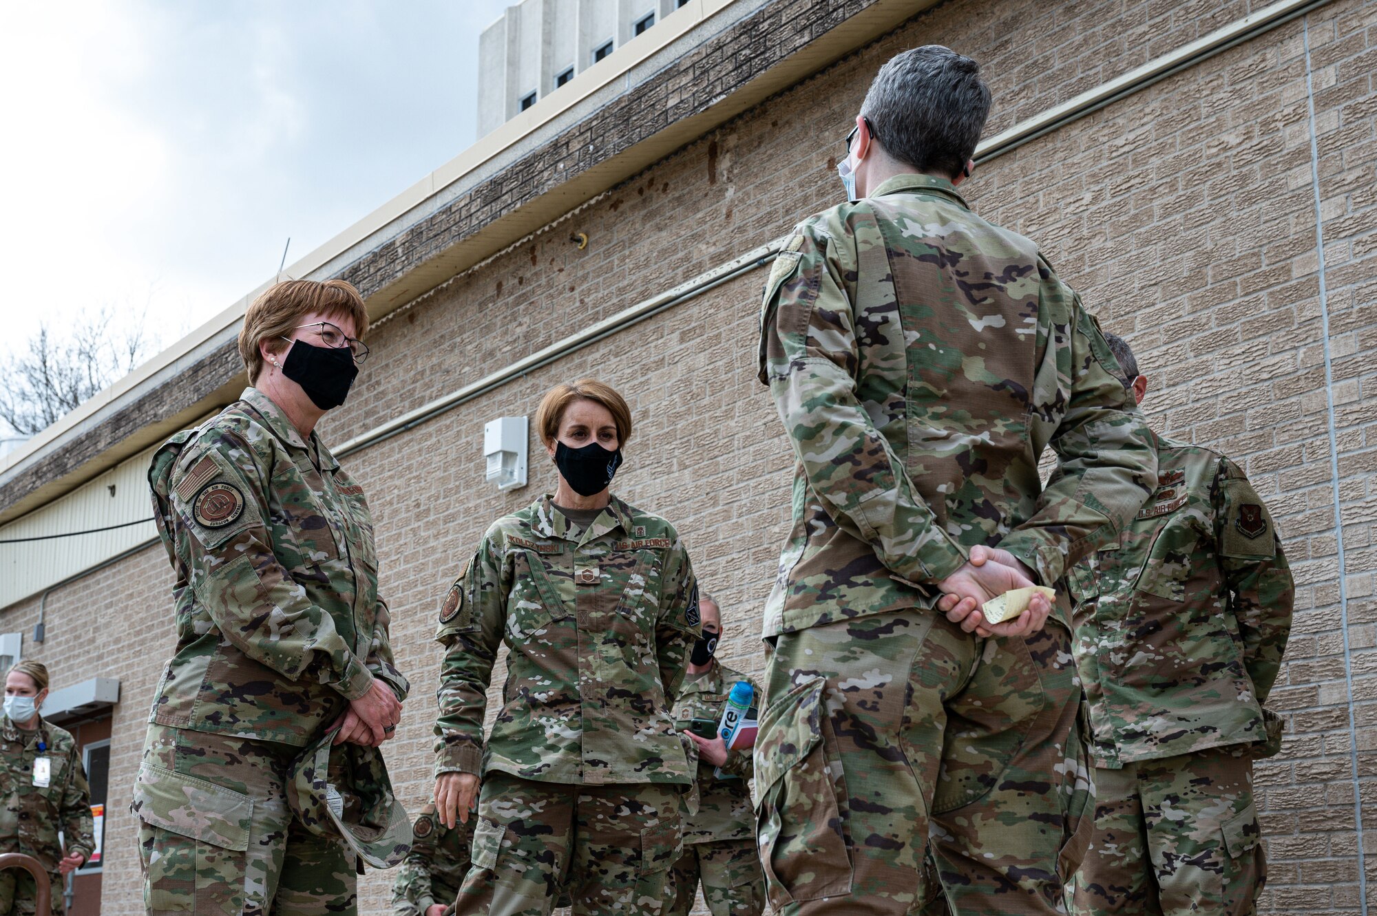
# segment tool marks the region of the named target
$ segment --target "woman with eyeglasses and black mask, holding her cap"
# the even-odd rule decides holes
[[[304,747],[377,747],[406,699],[364,490],[315,435],[366,330],[351,285],[277,283],[240,331],[249,388],[153,457],[178,641],[134,789],[149,913],[357,912],[355,857],[289,789]]]

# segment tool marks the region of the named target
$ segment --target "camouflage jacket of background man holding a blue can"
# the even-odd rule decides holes
[[[722,662],[712,668],[684,681],[675,706],[675,719],[680,729],[688,728],[695,718],[722,721],[722,707],[727,693],[737,681],[746,681],[755,690],[755,704],[764,697],[760,685],[739,671],[733,671]],[[697,745],[693,756],[697,758]],[[750,777],[755,774],[750,751],[727,751],[723,773],[735,778],[717,778],[712,763],[698,761],[698,811],[684,821],[684,843],[711,843],[713,840],[755,839],[756,816],[750,803]]]

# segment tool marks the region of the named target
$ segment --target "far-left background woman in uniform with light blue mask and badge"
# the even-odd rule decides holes
[[[21,662],[6,674],[0,758],[4,769],[4,810],[0,811],[0,853],[23,853],[48,872],[52,913],[62,916],[63,876],[95,849],[91,789],[72,733],[40,714],[48,696],[48,668]],[[58,839],[66,838],[66,851]],[[29,872],[0,872],[0,913],[33,916],[37,888]],[[47,916],[40,913],[39,916]]]

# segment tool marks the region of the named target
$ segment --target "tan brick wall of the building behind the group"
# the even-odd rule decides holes
[[[836,202],[832,165],[876,66],[929,41],[986,62],[991,129],[1036,114],[1261,4],[949,3],[669,155],[548,232],[397,314],[350,404],[343,441],[625,305],[781,235]],[[1037,238],[1106,327],[1137,348],[1158,430],[1219,447],[1267,497],[1286,538],[1297,619],[1275,704],[1282,756],[1259,766],[1271,882],[1267,912],[1356,912],[1348,685],[1329,465],[1315,201],[1303,33],[1319,133],[1329,349],[1343,495],[1358,758],[1377,831],[1377,345],[1373,281],[1377,3],[1340,0],[987,164],[967,190],[982,215]],[[1034,40],[1037,39],[1037,40]],[[587,232],[578,252],[567,241]],[[723,657],[759,671],[755,638],[786,520],[789,454],[755,381],[761,272],[505,385],[347,459],[373,505],[394,645],[413,699],[387,754],[409,807],[430,792],[439,596],[501,512],[552,470],[533,443],[532,486],[482,480],[485,421],[532,414],[555,381],[596,374],[632,402],[618,492],[669,517],[723,600]],[[1366,395],[1366,396],[1365,396]],[[48,600],[33,652],[58,684],[124,682],[112,751],[106,912],[139,910],[134,827],[121,798],[171,644],[167,567],[147,550]],[[28,601],[0,612],[28,629]],[[114,644],[112,644],[112,640]],[[500,682],[500,673],[494,677]],[[1377,887],[1377,846],[1369,849]],[[361,887],[386,909],[387,876]]]

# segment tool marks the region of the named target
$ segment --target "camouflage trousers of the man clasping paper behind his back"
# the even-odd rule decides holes
[[[935,611],[786,633],[756,741],[785,916],[1060,913],[1092,794],[1070,633],[980,640]]]

